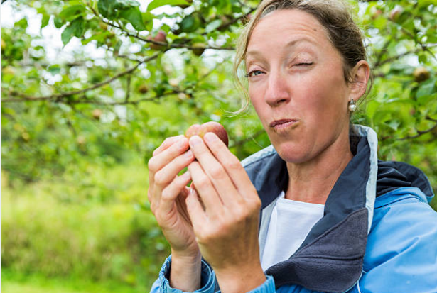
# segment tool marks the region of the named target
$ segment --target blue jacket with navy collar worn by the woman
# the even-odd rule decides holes
[[[350,136],[354,157],[296,253],[266,270],[253,293],[437,293],[437,213],[428,205],[433,190],[421,170],[377,159],[377,136],[356,126]],[[260,253],[274,203],[286,190],[286,163],[273,147],[242,162],[262,201]],[[153,293],[180,293],[169,287],[171,257]],[[219,291],[212,268],[203,261],[202,288]]]

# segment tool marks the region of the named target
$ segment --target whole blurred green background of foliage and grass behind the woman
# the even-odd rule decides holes
[[[374,84],[354,123],[437,190],[437,1],[350,1]],[[168,245],[146,201],[167,136],[218,121],[269,145],[232,60],[259,1],[1,2],[1,288],[148,292]],[[437,208],[436,199],[431,203]]]

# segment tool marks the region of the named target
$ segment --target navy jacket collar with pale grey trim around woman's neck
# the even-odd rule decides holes
[[[315,291],[345,292],[360,279],[372,224],[378,161],[376,133],[364,126],[356,126],[356,131],[355,156],[331,190],[323,218],[291,258],[266,270],[274,277],[276,287],[300,284]],[[261,198],[262,209],[286,190],[286,162],[273,147],[242,163]],[[270,216],[264,211],[260,236],[266,226],[263,221],[269,221]]]

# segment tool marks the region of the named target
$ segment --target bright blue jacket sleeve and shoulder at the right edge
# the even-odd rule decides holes
[[[418,199],[375,209],[354,292],[436,293],[436,211]]]

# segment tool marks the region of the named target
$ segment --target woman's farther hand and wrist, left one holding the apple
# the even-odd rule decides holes
[[[149,191],[151,211],[171,245],[171,287],[192,292],[200,287],[200,251],[185,199],[191,177],[178,173],[195,160],[188,150],[188,139],[175,136],[164,140],[149,160]]]

